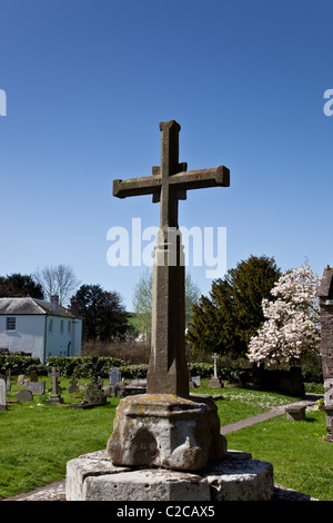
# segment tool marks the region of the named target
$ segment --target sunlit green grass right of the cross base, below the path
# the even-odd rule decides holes
[[[283,414],[228,434],[228,446],[272,463],[275,483],[332,501],[333,444],[325,434],[324,412],[306,411],[302,422],[289,422]]]

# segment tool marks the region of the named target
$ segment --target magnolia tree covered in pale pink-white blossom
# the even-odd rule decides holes
[[[271,290],[275,300],[262,300],[265,322],[249,344],[251,362],[295,363],[320,351],[320,277],[309,265],[283,273]]]

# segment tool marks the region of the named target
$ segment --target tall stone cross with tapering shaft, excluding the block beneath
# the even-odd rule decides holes
[[[160,234],[153,266],[152,342],[148,369],[148,394],[189,394],[185,358],[184,264],[180,245],[178,201],[186,198],[188,189],[229,187],[230,171],[220,166],[213,169],[186,171],[179,162],[180,125],[160,124],[161,166],[152,176],[113,180],[113,196],[152,194],[160,201]],[[172,259],[175,263],[170,264]]]

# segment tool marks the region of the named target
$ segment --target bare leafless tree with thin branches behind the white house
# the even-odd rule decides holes
[[[37,270],[33,278],[41,285],[47,299],[51,300],[51,296],[58,295],[60,305],[65,305],[71,294],[80,285],[73,269],[63,264]]]

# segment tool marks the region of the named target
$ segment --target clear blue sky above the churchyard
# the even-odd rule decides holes
[[[0,275],[68,264],[128,309],[144,267],[111,267],[108,230],[159,225],[114,178],[160,164],[159,122],[181,125],[189,170],[230,188],[188,193],[180,225],[226,227],[226,268],[333,265],[332,2],[1,0]],[[189,267],[202,294],[206,267]],[[223,275],[221,275],[223,277]]]

